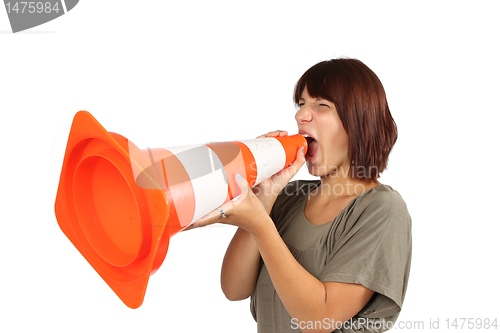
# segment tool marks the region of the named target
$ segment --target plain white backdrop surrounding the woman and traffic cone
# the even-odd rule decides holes
[[[382,178],[413,218],[400,322],[499,317],[497,8],[82,0],[17,34],[0,9],[0,331],[255,332],[219,286],[229,226],[174,236],[144,304],[121,303],[54,216],[69,126],[88,110],[141,148],[296,133],[296,80],[338,56],[378,74],[400,132]]]

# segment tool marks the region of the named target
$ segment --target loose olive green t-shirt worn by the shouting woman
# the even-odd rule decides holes
[[[356,283],[375,292],[368,304],[341,328],[334,318],[300,322],[291,318],[261,263],[251,312],[258,332],[383,332],[401,311],[411,262],[411,218],[401,196],[378,185],[352,200],[329,223],[314,225],[304,215],[319,181],[290,182],[278,196],[271,218],[295,259],[322,282]],[[330,325],[330,326],[329,326]]]

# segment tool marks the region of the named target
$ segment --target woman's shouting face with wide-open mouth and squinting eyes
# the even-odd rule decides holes
[[[341,166],[349,166],[348,137],[335,104],[309,96],[305,88],[295,120],[299,133],[309,136],[306,162],[310,174],[324,177],[333,175]]]

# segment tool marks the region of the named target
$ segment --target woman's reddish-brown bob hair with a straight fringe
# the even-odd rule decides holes
[[[311,97],[335,104],[349,137],[350,177],[377,180],[398,136],[377,75],[357,59],[332,59],[302,75],[295,86],[295,104],[306,87]]]

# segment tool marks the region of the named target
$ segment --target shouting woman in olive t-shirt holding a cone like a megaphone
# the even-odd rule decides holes
[[[251,296],[259,332],[385,331],[406,292],[411,219],[378,181],[397,138],[383,86],[361,61],[333,59],[303,74],[294,100],[307,153],[253,190],[238,175],[242,195],[195,226],[239,227],[221,285]],[[319,180],[290,182],[304,162]]]

